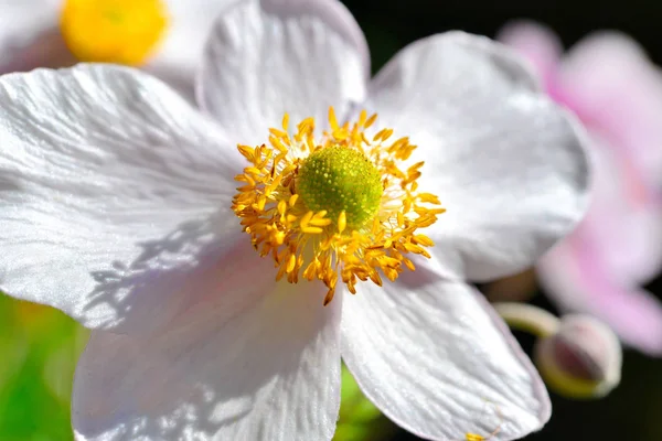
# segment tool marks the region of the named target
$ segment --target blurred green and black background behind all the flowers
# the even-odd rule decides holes
[[[508,21],[521,18],[547,24],[566,47],[595,30],[620,30],[637,40],[653,62],[662,63],[662,3],[653,0],[345,0],[344,3],[367,36],[373,71],[419,37],[448,30],[494,36]],[[532,303],[555,311],[531,273],[516,286],[480,288],[494,298],[508,299],[514,294],[509,287],[530,291],[526,298],[530,295]],[[645,288],[658,297],[662,294],[660,279]],[[517,336],[531,353],[533,338]],[[0,295],[0,441],[72,440],[71,385],[85,340],[86,332],[63,314]],[[339,440],[417,439],[375,413],[350,383],[343,386],[343,394]],[[626,349],[621,385],[608,397],[574,401],[552,394],[552,400],[551,422],[526,440],[662,440],[662,359]]]

